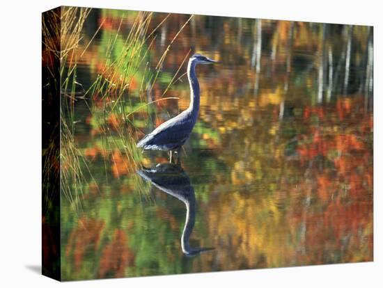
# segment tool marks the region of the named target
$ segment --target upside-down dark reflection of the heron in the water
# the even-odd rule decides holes
[[[181,237],[182,252],[185,255],[196,255],[214,248],[191,248],[189,238],[196,221],[196,197],[190,183],[189,175],[180,165],[173,163],[157,164],[153,169],[143,169],[137,173],[156,186],[159,190],[172,195],[184,202],[186,206],[186,220]]]

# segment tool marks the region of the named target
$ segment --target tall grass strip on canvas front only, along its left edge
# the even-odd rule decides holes
[[[75,143],[75,102],[80,86],[77,83],[77,63],[81,32],[90,8],[63,7],[61,11],[61,192],[75,210],[81,207],[86,177],[82,167],[86,159]]]

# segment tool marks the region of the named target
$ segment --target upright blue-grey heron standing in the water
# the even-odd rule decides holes
[[[148,135],[144,136],[137,147],[144,150],[165,150],[170,151],[170,162],[172,150],[180,152],[180,147],[185,144],[192,133],[196,124],[199,110],[200,89],[196,77],[197,64],[218,63],[201,54],[194,54],[187,65],[187,78],[190,85],[190,104],[189,108],[182,111],[179,115],[162,123]]]

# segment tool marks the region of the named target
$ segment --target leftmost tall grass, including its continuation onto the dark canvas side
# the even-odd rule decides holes
[[[81,166],[84,163],[86,165],[73,136],[75,134],[75,100],[77,86],[79,86],[76,81],[77,54],[81,31],[90,11],[90,8],[62,7],[54,13],[44,15],[42,19],[42,38],[45,41],[45,49],[58,59],[58,63],[52,67],[48,65],[47,69],[52,75],[50,78],[56,82],[49,85],[57,86],[55,89],[52,88],[52,91],[56,90],[60,93],[60,95],[52,95],[60,97],[58,105],[60,121],[58,129],[51,136],[49,147],[43,151],[43,155],[48,156],[44,158],[43,174],[53,177],[56,174],[52,174],[52,169],[60,173],[57,179],[60,179],[61,191],[77,209],[85,179]],[[55,69],[58,69],[58,73]],[[52,103],[57,104],[58,100],[55,99]],[[52,109],[55,108],[52,107]],[[56,145],[59,147],[54,147]],[[50,181],[45,179],[45,182]],[[49,191],[54,190],[49,189]],[[45,195],[49,198],[49,193]]]

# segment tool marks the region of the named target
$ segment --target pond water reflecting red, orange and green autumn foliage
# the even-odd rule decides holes
[[[86,19],[84,47],[103,25],[78,67],[84,88],[102,69],[111,33],[120,29],[123,42],[134,17],[93,10]],[[187,19],[171,15],[159,27],[152,69]],[[77,101],[75,142],[91,175],[79,209],[63,197],[63,279],[372,261],[371,33],[194,15],[148,96],[162,97],[190,49],[223,62],[197,67],[201,108],[181,168],[166,152],[144,152],[152,169],[132,172],[123,151],[104,149],[93,113]],[[139,138],[189,105],[186,64],[164,96],[180,99],[136,116]]]

